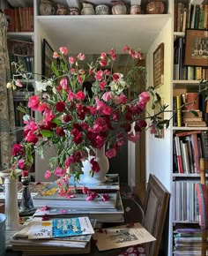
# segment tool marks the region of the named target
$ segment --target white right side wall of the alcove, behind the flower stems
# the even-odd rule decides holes
[[[160,94],[164,103],[171,104],[171,66],[172,66],[172,21],[169,20],[167,25],[163,28],[157,39],[152,43],[151,49],[147,54],[147,86],[153,85],[153,52],[164,42],[164,85],[158,87],[157,92]],[[152,109],[150,109],[152,111]],[[169,118],[170,113],[165,113],[164,118]],[[146,132],[146,177],[152,173],[158,177],[162,184],[165,185],[168,191],[171,187],[170,174],[172,171],[172,153],[171,148],[171,134],[170,130],[164,131],[164,138],[157,139],[148,130]]]

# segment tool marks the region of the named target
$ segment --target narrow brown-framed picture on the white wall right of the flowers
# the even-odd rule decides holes
[[[160,87],[164,83],[164,43],[153,52],[153,86]]]

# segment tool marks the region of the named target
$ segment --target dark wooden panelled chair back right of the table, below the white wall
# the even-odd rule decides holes
[[[157,256],[159,253],[168,200],[169,192],[160,183],[160,180],[151,174],[145,192],[144,227],[156,238],[156,241],[144,245],[146,256]]]

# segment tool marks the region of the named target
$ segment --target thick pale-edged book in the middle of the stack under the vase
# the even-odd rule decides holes
[[[98,194],[93,200],[86,200],[87,195],[82,192],[71,192],[71,195],[61,196],[56,186],[52,186],[48,191],[33,196],[33,205],[34,207],[115,208],[117,194],[117,192],[108,192],[108,200],[102,200],[103,194]]]

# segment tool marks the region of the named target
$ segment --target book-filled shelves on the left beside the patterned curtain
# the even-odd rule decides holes
[[[20,2],[20,1],[19,1]],[[23,139],[24,128],[23,113],[19,108],[27,106],[27,96],[34,94],[34,19],[33,1],[0,1],[0,7],[7,16],[7,47],[10,60],[10,81],[19,79],[22,87],[16,87],[13,91],[13,102],[15,110],[16,139],[20,142]],[[18,63],[26,72],[26,77],[19,76]],[[9,82],[9,78],[8,78]],[[14,84],[14,86],[16,86]],[[33,112],[28,113],[33,116]],[[34,166],[30,169],[30,175],[34,180]]]

